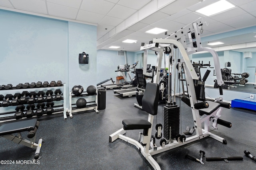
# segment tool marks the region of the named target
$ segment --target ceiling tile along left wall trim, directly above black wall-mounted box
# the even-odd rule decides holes
[[[103,17],[104,15],[101,15],[101,14],[79,10],[76,20],[86,21],[91,23],[99,23]]]

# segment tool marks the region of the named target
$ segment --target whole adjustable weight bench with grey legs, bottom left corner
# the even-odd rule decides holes
[[[36,131],[39,127],[39,124],[40,123],[37,121],[37,119],[28,119],[24,121],[13,121],[6,123],[0,126],[0,136],[14,143],[22,144],[24,146],[36,149],[34,159],[38,160],[41,158],[39,154],[43,141],[42,139],[39,139],[38,143],[35,143]],[[28,131],[27,137],[30,139],[30,141],[22,138],[20,132],[23,131]],[[14,133],[18,134],[14,135]]]

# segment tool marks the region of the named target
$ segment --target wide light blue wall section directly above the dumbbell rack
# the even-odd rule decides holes
[[[1,84],[68,80],[68,22],[0,10]]]

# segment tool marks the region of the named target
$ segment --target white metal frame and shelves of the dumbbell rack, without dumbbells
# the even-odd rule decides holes
[[[64,120],[67,119],[67,115],[66,115],[66,83],[63,83],[62,86],[54,86],[54,87],[39,87],[39,88],[22,88],[22,89],[16,89],[16,88],[12,88],[12,89],[8,89],[8,90],[1,90],[1,93],[5,93],[6,94],[14,94],[14,93],[22,93],[22,91],[28,91],[28,92],[32,92],[32,91],[47,91],[47,90],[55,90],[55,89],[61,89],[62,90],[62,104],[59,104],[58,106],[53,106],[53,108],[57,108],[57,107],[62,107],[63,109],[54,109],[54,113],[52,114],[56,114],[56,113],[63,113],[64,116]],[[12,92],[10,92],[12,91]],[[10,100],[11,101],[11,100]],[[59,102],[59,101],[58,101]],[[24,104],[27,105],[27,104]],[[9,107],[9,108],[8,108]],[[4,122],[4,121],[10,121],[13,119],[14,114],[16,113],[16,111],[12,111],[15,107],[14,106],[8,106],[8,107],[0,107],[0,110],[2,110],[2,108],[5,108],[4,110],[6,112],[0,112],[0,122]],[[24,110],[23,112],[25,112],[26,110]],[[42,116],[47,115],[47,114],[43,114]],[[22,119],[25,119],[26,117],[23,117]]]

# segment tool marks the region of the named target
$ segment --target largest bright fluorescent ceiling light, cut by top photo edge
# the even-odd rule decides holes
[[[197,13],[203,14],[204,16],[212,16],[214,14],[218,14],[227,10],[230,10],[234,8],[233,4],[230,4],[226,0],[220,0],[218,2],[215,2],[211,5],[208,5],[204,8],[201,8],[200,10],[197,10]]]

